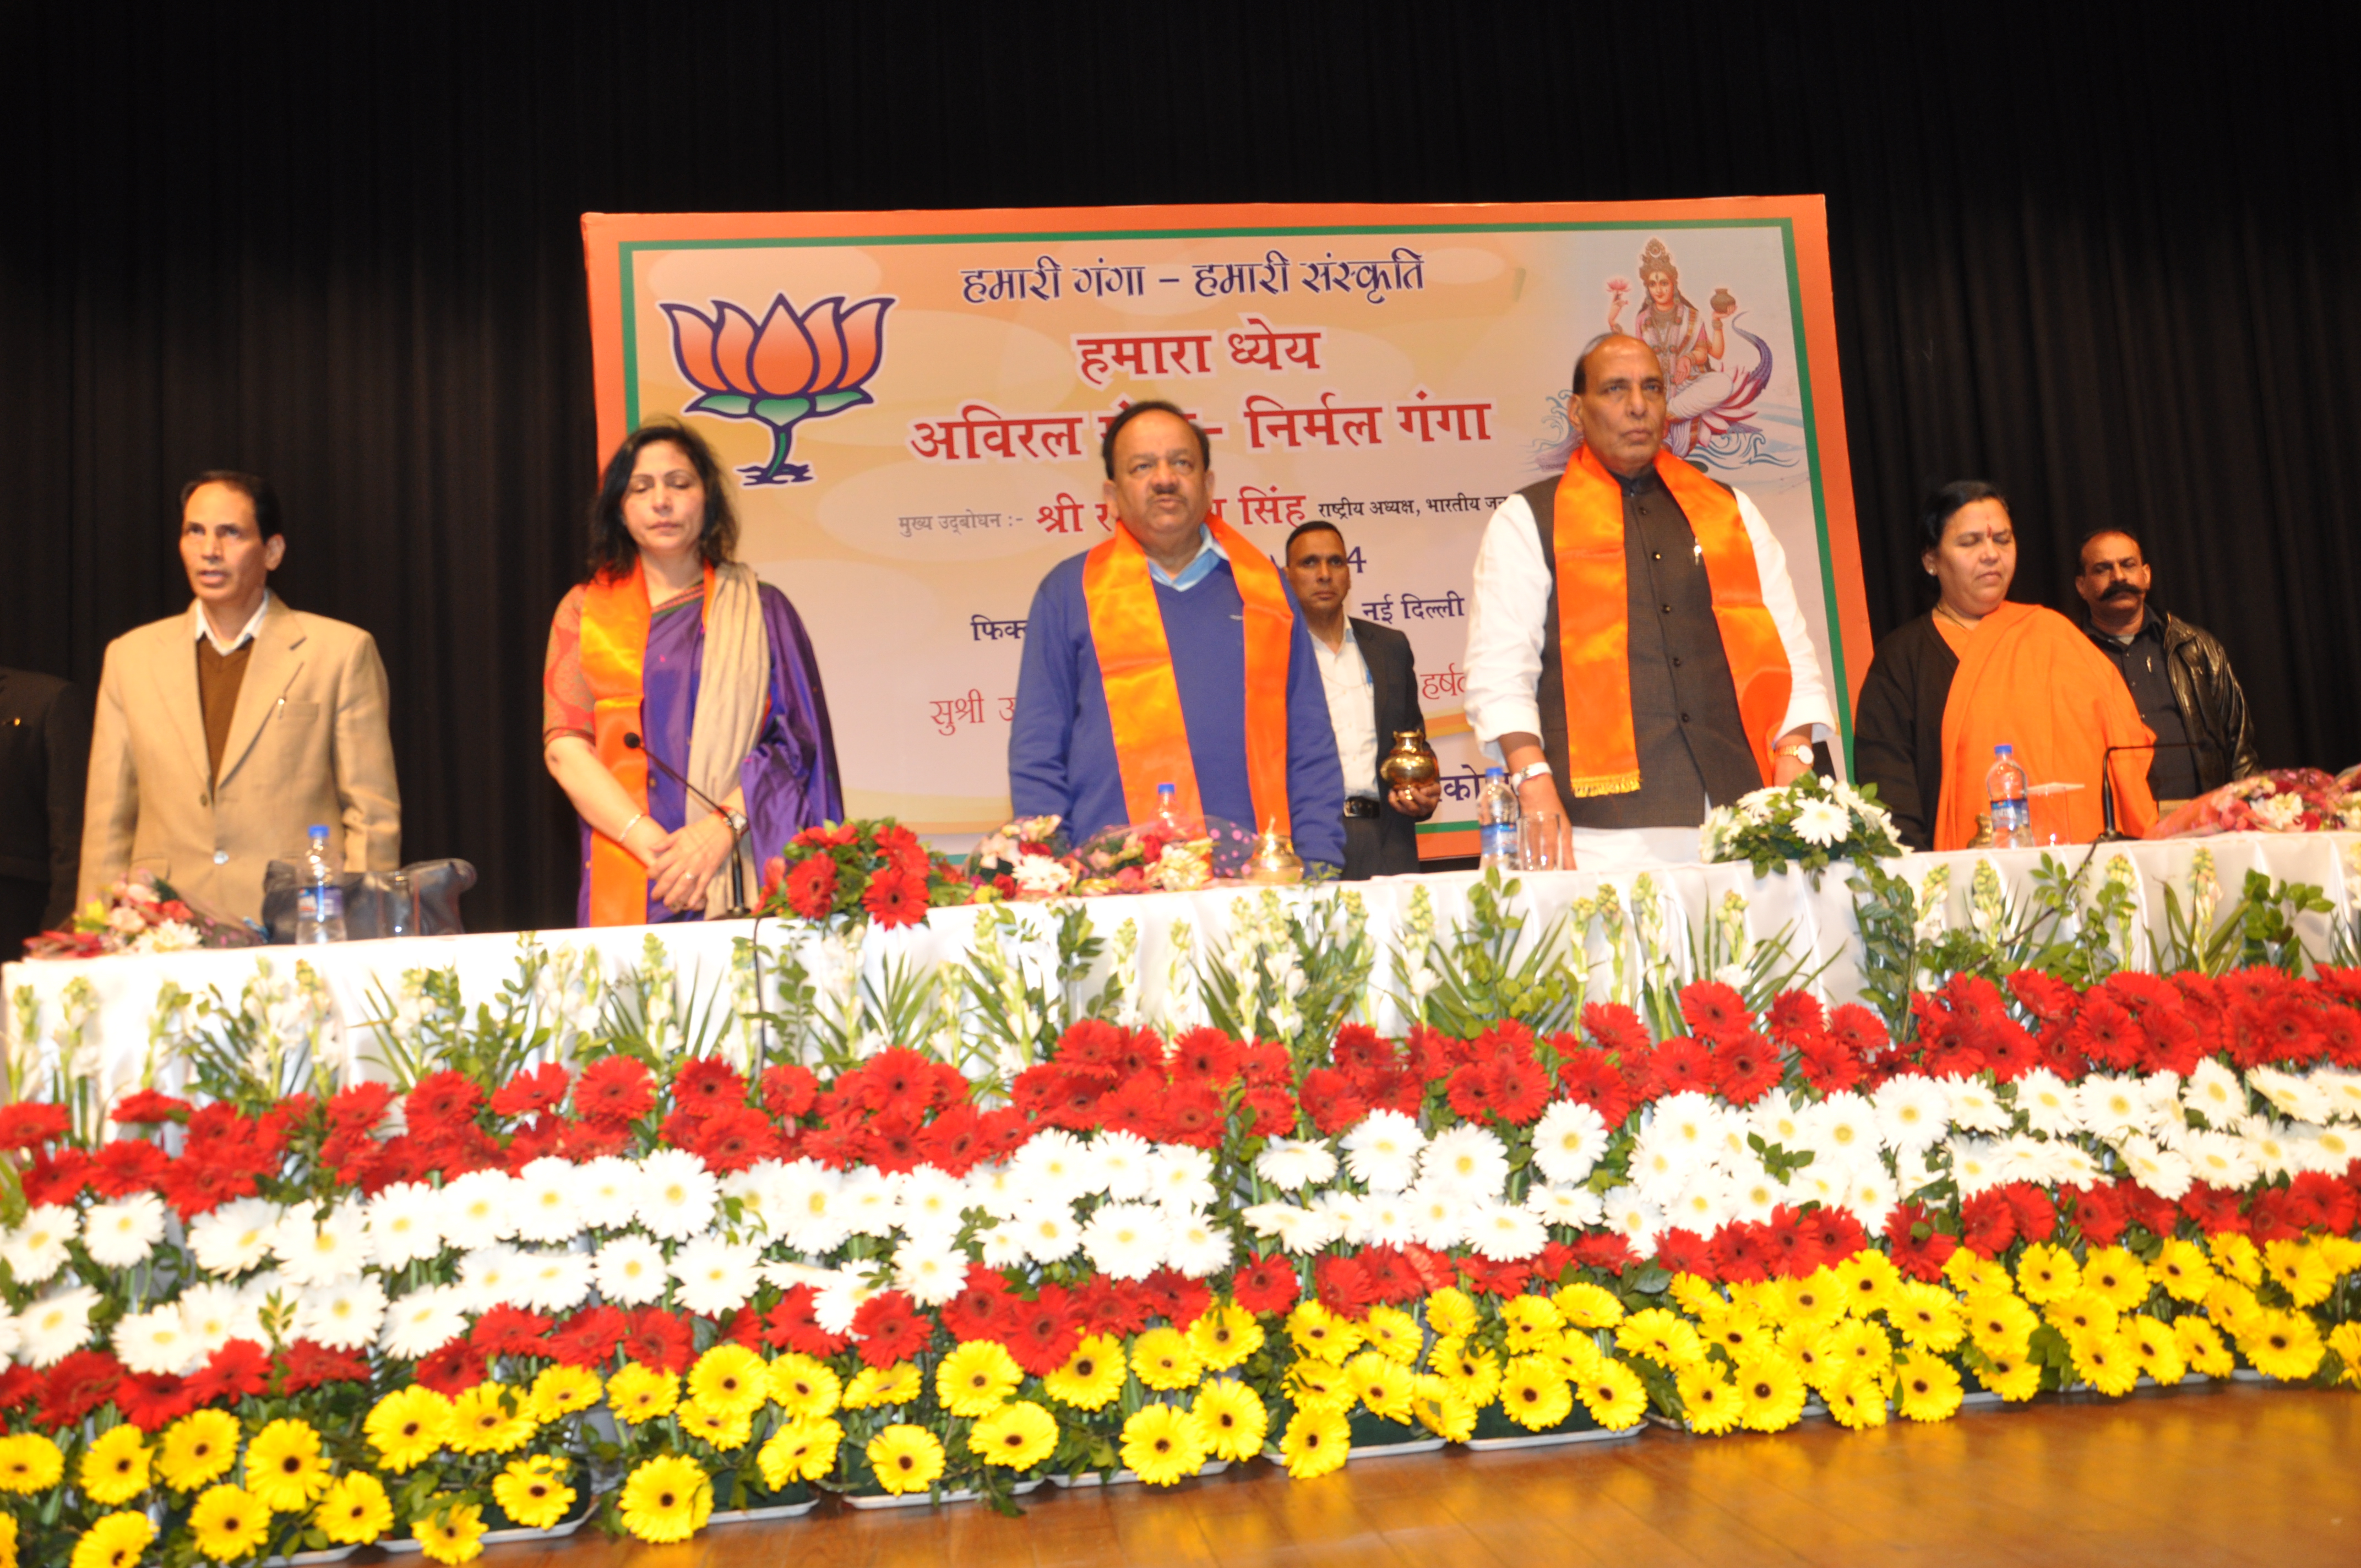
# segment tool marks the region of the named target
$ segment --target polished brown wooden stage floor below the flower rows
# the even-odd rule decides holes
[[[1244,1466],[1171,1492],[727,1525],[680,1547],[498,1547],[486,1568],[959,1563],[2361,1563],[2361,1396],[2255,1386],[1964,1410],[1936,1426]],[[833,1509],[833,1511],[831,1511]]]

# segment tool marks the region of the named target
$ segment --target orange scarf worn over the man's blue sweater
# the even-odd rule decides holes
[[[1247,609],[1247,786],[1254,791],[1261,829],[1287,819],[1287,659],[1294,645],[1294,609],[1280,569],[1244,534],[1206,520],[1230,553],[1230,576]],[[1190,760],[1188,720],[1180,716],[1180,680],[1164,642],[1147,553],[1131,529],[1091,545],[1081,564],[1081,597],[1091,612],[1091,645],[1098,680],[1107,692],[1107,725],[1114,730],[1114,763],[1124,775],[1124,808],[1133,822],[1157,815],[1157,784],[1173,786],[1173,810],[1183,819],[1204,815],[1197,798],[1197,765]]]

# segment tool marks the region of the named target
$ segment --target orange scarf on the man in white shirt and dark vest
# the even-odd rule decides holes
[[[1688,517],[1705,550],[1705,581],[1714,593],[1721,654],[1738,687],[1738,718],[1747,746],[1773,777],[1771,741],[1787,718],[1794,675],[1787,647],[1764,609],[1754,543],[1738,515],[1738,498],[1688,463],[1657,449],[1655,475]],[[1575,451],[1558,482],[1554,543],[1558,562],[1558,671],[1565,678],[1565,786],[1575,798],[1624,796],[1639,789],[1639,739],[1631,732],[1631,626],[1624,581],[1622,484],[1589,446]]]

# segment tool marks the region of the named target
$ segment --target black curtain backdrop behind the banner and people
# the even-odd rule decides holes
[[[2352,12],[2156,7],[9,7],[0,664],[94,682],[189,600],[179,482],[378,635],[404,852],[571,916],[538,756],[593,449],[578,215],[1820,191],[1882,633],[1915,503],[2016,595],[2132,527],[2267,763],[2361,758]],[[890,607],[881,607],[881,614]],[[822,664],[857,701],[862,671]]]

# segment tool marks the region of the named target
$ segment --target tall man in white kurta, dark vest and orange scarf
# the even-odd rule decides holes
[[[1813,767],[1827,682],[1761,512],[1665,451],[1655,352],[1598,338],[1572,416],[1476,553],[1469,725],[1580,864],[1693,862],[1709,805]]]

